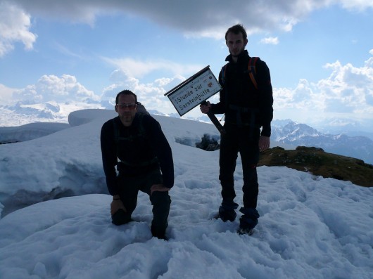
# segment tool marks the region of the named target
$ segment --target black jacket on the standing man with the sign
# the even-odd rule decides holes
[[[222,84],[220,102],[212,105],[214,114],[225,113],[225,122],[231,124],[255,125],[263,127],[263,136],[271,135],[271,121],[273,118],[273,96],[270,70],[267,64],[258,59],[255,64],[256,82],[248,75],[248,60],[250,56],[243,51],[237,60],[232,61],[229,55],[225,59],[229,63],[225,67],[225,79],[222,80],[222,72],[219,74],[219,82]],[[240,111],[239,111],[240,110]]]

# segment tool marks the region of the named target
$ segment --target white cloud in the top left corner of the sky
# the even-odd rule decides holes
[[[30,15],[12,4],[0,2],[0,57],[12,51],[17,41],[25,49],[32,49],[37,35],[30,32],[30,26]]]

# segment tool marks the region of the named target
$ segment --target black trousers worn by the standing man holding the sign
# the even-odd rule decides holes
[[[234,124],[225,124],[226,134],[220,140],[220,174],[222,198],[230,202],[236,197],[234,190],[234,171],[238,154],[241,155],[244,176],[244,207],[256,209],[258,202],[258,174],[256,164],[259,160],[260,129]]]

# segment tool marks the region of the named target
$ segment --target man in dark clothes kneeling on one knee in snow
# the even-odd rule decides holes
[[[167,239],[165,231],[171,204],[168,191],[174,183],[170,145],[156,119],[136,113],[137,96],[132,91],[118,93],[115,104],[118,117],[108,120],[101,128],[103,171],[108,191],[113,195],[112,222],[119,226],[132,221],[141,190],[149,195],[153,205],[152,235]]]

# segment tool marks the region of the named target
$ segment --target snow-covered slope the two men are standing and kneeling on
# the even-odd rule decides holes
[[[99,131],[114,116],[82,110],[71,115],[70,128],[0,145],[0,202],[7,213],[0,219],[1,279],[372,278],[373,188],[260,167],[258,226],[250,237],[237,235],[238,220],[211,219],[221,202],[219,152],[178,143],[217,135],[201,122],[155,116],[175,160],[170,240],[151,238],[143,193],[136,222],[113,226]],[[240,161],[235,181],[241,205]],[[76,196],[49,200],[56,193]],[[48,201],[11,212],[17,201],[40,198]]]

